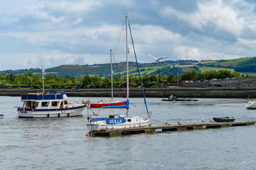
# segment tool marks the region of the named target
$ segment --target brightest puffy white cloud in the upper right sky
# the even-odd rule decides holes
[[[200,1],[198,10],[193,13],[184,13],[168,6],[163,8],[161,15],[164,17],[173,15],[200,31],[215,27],[215,29],[222,29],[235,36],[239,36],[243,32],[245,24],[244,17],[227,4],[223,4],[221,0]]]

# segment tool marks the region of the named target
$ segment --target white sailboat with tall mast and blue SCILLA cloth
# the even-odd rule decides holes
[[[108,106],[108,108],[126,108],[126,115],[109,115],[109,117],[102,117],[102,118],[91,118],[88,115],[88,130],[90,131],[106,131],[107,129],[125,129],[125,128],[131,128],[131,127],[143,127],[148,125],[150,122],[150,115],[151,113],[148,113],[147,103],[145,99],[145,94],[143,91],[143,85],[141,81],[140,76],[140,69],[138,67],[138,61],[136,57],[136,52],[134,49],[134,43],[132,40],[132,34],[131,34],[131,27],[129,25],[129,31],[131,34],[131,40],[132,40],[132,46],[134,49],[134,55],[137,63],[138,73],[140,76],[141,81],[141,90],[143,92],[143,98],[145,103],[145,108],[147,110],[148,118],[142,118],[139,116],[130,116],[129,115],[129,67],[128,67],[128,45],[127,45],[127,34],[128,34],[128,17],[125,16],[125,26],[126,26],[126,66],[127,66],[127,101],[122,106]],[[105,108],[105,107],[104,107]]]

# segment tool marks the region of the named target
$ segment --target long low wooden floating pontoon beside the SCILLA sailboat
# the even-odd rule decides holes
[[[196,124],[164,124],[146,127],[131,127],[126,129],[107,129],[106,131],[89,131],[92,136],[121,136],[125,134],[154,133],[168,131],[191,131],[220,127],[254,125],[256,120],[237,120],[235,122],[202,122]]]

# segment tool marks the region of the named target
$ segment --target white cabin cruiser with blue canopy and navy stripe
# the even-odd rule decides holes
[[[20,118],[76,117],[83,115],[86,103],[69,103],[65,91],[22,94]]]

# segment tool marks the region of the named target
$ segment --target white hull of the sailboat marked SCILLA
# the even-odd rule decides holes
[[[143,120],[142,122],[125,122],[124,124],[106,124],[104,121],[93,122],[87,125],[89,131],[106,131],[107,129],[128,129],[132,127],[147,126],[150,119]]]

